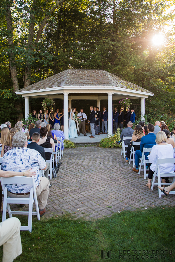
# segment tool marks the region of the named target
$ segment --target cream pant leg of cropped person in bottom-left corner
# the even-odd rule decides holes
[[[0,246],[3,245],[2,262],[12,262],[22,253],[21,222],[18,218],[8,218],[0,223]]]

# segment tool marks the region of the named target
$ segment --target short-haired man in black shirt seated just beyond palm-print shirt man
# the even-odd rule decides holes
[[[39,141],[40,141],[40,134],[33,133],[32,142],[27,145],[27,148],[37,150],[40,153],[41,157],[44,158],[44,160],[46,160],[44,148],[38,145]],[[49,178],[50,163],[46,162],[46,165],[47,165],[47,168],[44,170],[44,174],[45,174],[45,177]],[[49,187],[51,186],[52,184],[50,184]]]

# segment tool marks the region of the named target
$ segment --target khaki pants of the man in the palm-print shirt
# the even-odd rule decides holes
[[[44,209],[47,205],[47,199],[49,196],[49,179],[46,177],[40,177],[40,184],[36,188],[36,193],[38,196],[38,207],[40,210]],[[30,195],[14,195],[7,192],[7,195],[10,197],[20,197],[20,198],[29,198]]]

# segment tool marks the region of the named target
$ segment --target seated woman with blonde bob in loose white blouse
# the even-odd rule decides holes
[[[174,150],[171,144],[167,144],[167,137],[163,131],[159,131],[156,135],[156,144],[152,147],[150,155],[148,155],[148,159],[151,163],[148,173],[148,183],[146,186],[151,188],[151,179],[153,177],[157,158],[174,158]],[[173,173],[174,172],[174,164],[173,163],[165,163],[160,164],[160,173]],[[165,183],[165,177],[161,177],[162,182]]]

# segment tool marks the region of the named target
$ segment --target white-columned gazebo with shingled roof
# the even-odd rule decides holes
[[[17,95],[25,97],[25,118],[29,114],[29,97],[64,99],[64,135],[68,139],[68,107],[72,100],[108,100],[108,135],[112,134],[112,99],[141,98],[141,116],[145,98],[154,94],[105,70],[68,69],[29,85]]]

